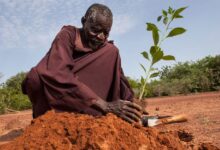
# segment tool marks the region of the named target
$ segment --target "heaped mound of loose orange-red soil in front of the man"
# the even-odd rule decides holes
[[[182,150],[188,146],[178,134],[130,125],[113,114],[93,117],[50,111],[0,149]]]

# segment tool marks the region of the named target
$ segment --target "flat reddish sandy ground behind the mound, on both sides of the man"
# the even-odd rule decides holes
[[[210,142],[220,147],[220,92],[147,99],[150,115],[185,114],[188,121],[156,127],[160,130],[184,130],[191,142]],[[0,115],[0,144],[21,135],[32,120],[31,110]]]

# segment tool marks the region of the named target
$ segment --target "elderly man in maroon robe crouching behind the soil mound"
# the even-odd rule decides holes
[[[91,115],[114,113],[132,123],[141,118],[125,78],[118,49],[108,41],[112,12],[91,5],[82,17],[82,28],[64,26],[49,52],[22,83],[36,118],[46,111]]]

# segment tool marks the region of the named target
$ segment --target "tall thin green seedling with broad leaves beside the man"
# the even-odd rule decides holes
[[[186,29],[182,27],[171,27],[171,23],[176,20],[183,18],[181,13],[186,9],[187,7],[181,7],[179,9],[173,9],[171,7],[168,8],[168,10],[162,10],[162,15],[158,16],[157,21],[158,23],[162,22],[164,28],[163,31],[159,30],[159,28],[153,24],[153,23],[146,23],[147,25],[147,31],[152,32],[152,38],[153,38],[153,45],[151,46],[149,52],[143,51],[141,52],[142,56],[150,62],[149,67],[141,65],[141,68],[144,70],[144,77],[141,76],[141,91],[139,95],[139,100],[141,100],[147,92],[146,86],[150,79],[155,78],[159,76],[160,72],[154,68],[155,64],[160,62],[161,60],[170,61],[175,60],[175,57],[172,55],[165,55],[164,50],[161,48],[161,44],[163,41],[167,38],[171,38],[174,36],[178,36],[183,34]]]

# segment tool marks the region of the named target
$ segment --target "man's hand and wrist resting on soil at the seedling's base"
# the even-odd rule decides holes
[[[126,100],[106,102],[99,99],[94,105],[95,107],[98,107],[98,109],[101,109],[104,113],[114,113],[129,123],[141,121],[142,108],[136,103]]]

